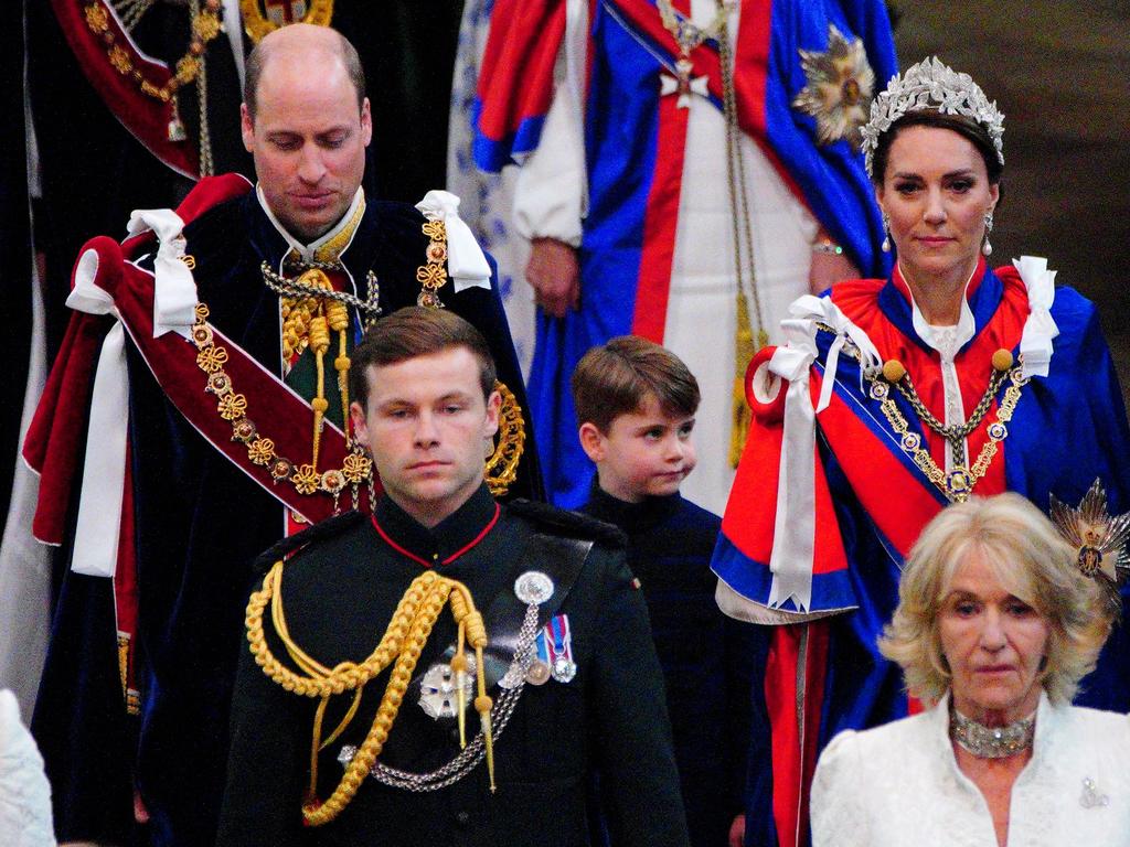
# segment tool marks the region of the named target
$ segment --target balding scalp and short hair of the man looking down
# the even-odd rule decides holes
[[[275,61],[308,67],[311,72],[325,72],[325,62],[340,62],[357,91],[357,108],[365,102],[365,70],[360,56],[349,40],[337,29],[313,24],[292,24],[268,33],[247,56],[243,84],[243,102],[251,120],[255,120],[259,86],[268,66]]]

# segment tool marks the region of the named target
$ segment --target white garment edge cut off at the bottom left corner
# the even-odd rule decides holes
[[[0,844],[55,845],[43,757],[19,721],[16,696],[7,689],[0,691]]]

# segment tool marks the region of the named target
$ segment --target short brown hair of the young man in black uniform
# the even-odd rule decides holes
[[[398,365],[419,356],[464,347],[479,363],[483,396],[489,398],[495,384],[495,364],[483,333],[445,308],[407,306],[382,317],[366,332],[354,349],[349,365],[349,396],[362,409],[368,402],[370,365]]]

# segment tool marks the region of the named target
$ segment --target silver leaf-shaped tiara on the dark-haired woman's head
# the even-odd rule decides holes
[[[890,129],[890,124],[909,112],[935,110],[947,115],[965,115],[980,123],[989,132],[997,158],[1005,164],[1005,115],[997,108],[997,102],[989,102],[981,86],[968,73],[958,73],[942,64],[938,56],[923,59],[897,73],[887,84],[887,90],[871,101],[871,120],[860,131],[863,136],[863,161],[868,176],[871,160],[879,146],[879,136]]]

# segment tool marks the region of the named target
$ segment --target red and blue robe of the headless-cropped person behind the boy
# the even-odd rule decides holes
[[[675,6],[689,11],[689,2]],[[590,347],[614,335],[663,341],[687,155],[688,110],[661,87],[661,77],[675,73],[679,47],[655,3],[594,0],[590,23],[582,305],[562,320],[541,316],[529,385],[547,492],[573,507],[584,501],[592,471],[577,444],[568,378]],[[895,70],[895,53],[880,0],[744,0],[736,43],[738,120],[857,267],[884,273],[881,221],[861,157],[844,140],[817,146],[814,119],[791,106],[807,84],[799,51],[827,50],[829,25],[863,41],[876,88],[883,86]],[[560,0],[496,2],[476,103],[475,156],[484,169],[498,171],[537,148],[564,33]],[[706,77],[707,98],[721,112],[718,42],[707,40],[690,59],[692,76]],[[724,157],[725,150],[710,155]],[[772,324],[776,317],[766,316]]]

